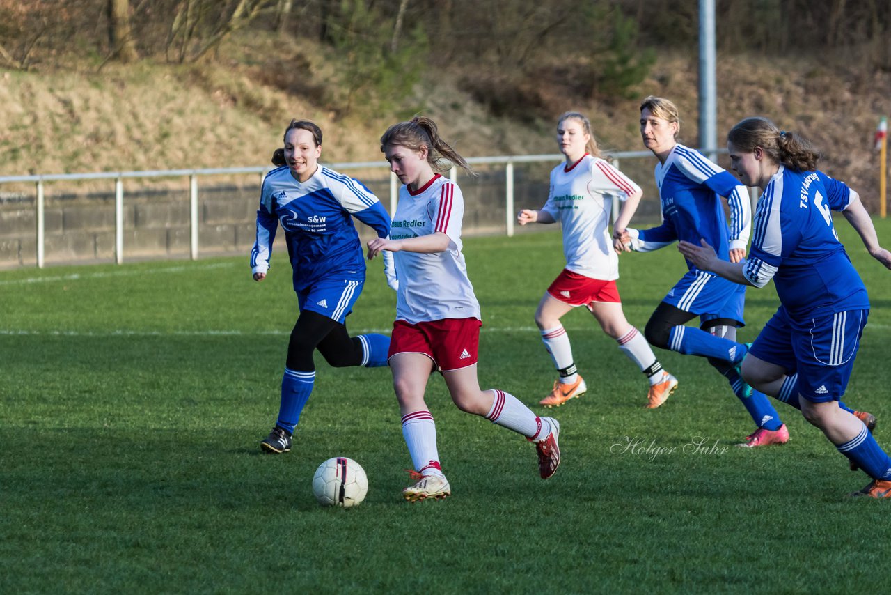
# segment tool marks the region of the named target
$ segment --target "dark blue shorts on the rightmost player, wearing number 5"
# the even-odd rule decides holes
[[[870,310],[846,310],[793,320],[782,306],[767,321],[749,353],[798,374],[798,393],[812,402],[845,394]]]

